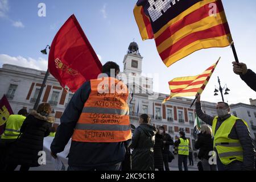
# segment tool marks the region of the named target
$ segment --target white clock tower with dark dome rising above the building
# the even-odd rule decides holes
[[[138,44],[135,42],[130,43],[127,54],[123,58],[123,72],[131,73],[134,76],[141,75],[142,59]]]

